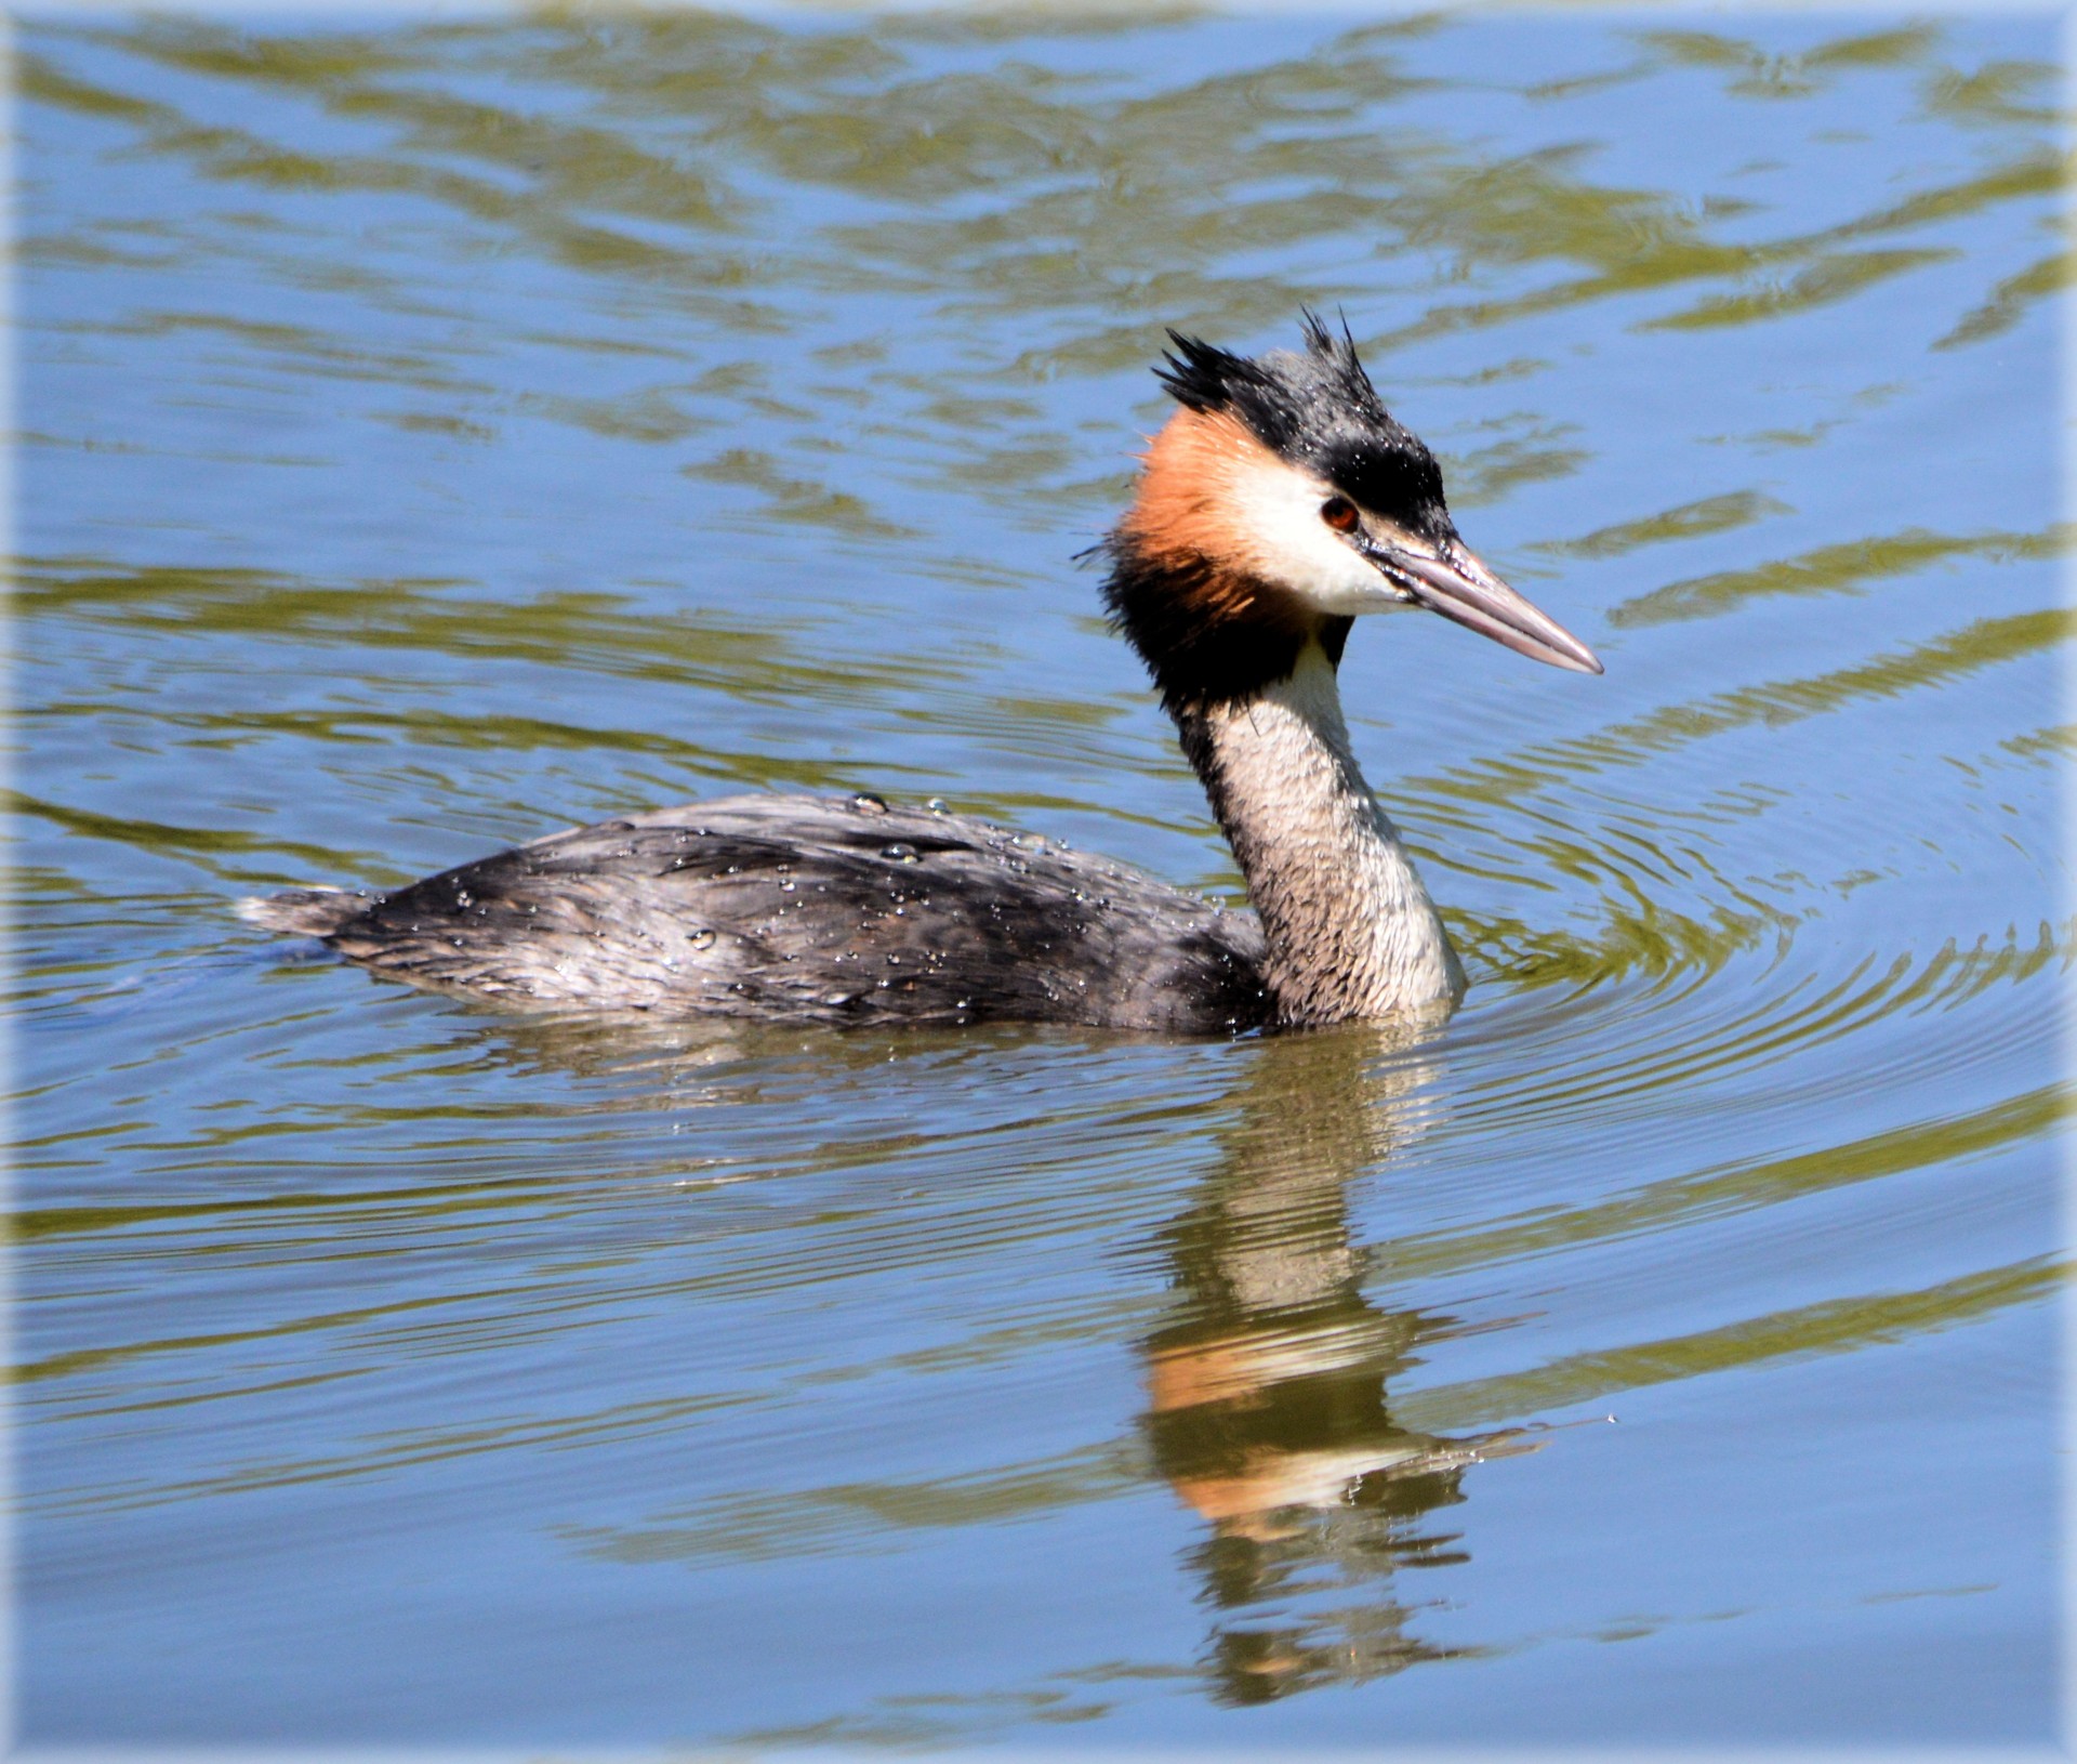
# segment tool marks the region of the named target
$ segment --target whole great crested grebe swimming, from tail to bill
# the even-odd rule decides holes
[[[729,796],[550,833],[395,893],[243,902],[420,987],[517,1008],[1213,1033],[1448,1010],[1450,937],[1336,692],[1358,613],[1427,607],[1601,663],[1456,536],[1344,326],[1304,353],[1169,332],[1180,409],[1099,551],[1255,912],[960,814]]]

